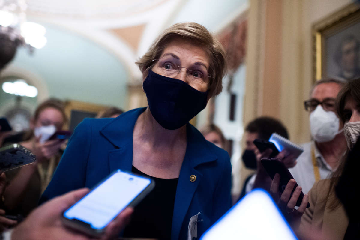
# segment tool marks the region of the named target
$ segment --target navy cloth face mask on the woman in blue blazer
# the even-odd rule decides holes
[[[151,70],[143,88],[151,114],[163,128],[169,130],[184,126],[207,104],[207,91],[198,91],[184,81]]]

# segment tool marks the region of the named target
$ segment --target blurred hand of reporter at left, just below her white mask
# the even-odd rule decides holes
[[[64,142],[61,139],[53,139],[40,143],[40,138],[41,136],[35,137],[35,141],[33,142],[31,149],[33,154],[36,155],[36,160],[38,160],[38,162],[42,162],[53,157],[59,151]]]

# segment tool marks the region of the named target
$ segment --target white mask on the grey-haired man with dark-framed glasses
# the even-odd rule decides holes
[[[316,142],[328,142],[343,130],[339,130],[339,118],[336,114],[332,111],[325,111],[319,104],[310,113],[310,131]]]

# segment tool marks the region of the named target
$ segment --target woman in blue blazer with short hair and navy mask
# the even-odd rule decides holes
[[[91,188],[116,169],[132,171],[153,177],[156,187],[135,208],[124,237],[200,237],[231,207],[231,164],[188,122],[221,92],[225,52],[203,26],[179,23],[137,64],[149,107],[80,123],[40,202]],[[188,231],[197,214],[197,231]]]

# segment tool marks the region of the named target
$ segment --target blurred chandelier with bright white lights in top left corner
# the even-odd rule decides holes
[[[0,0],[0,69],[15,56],[19,46],[30,53],[46,44],[45,27],[26,21],[25,0]]]

